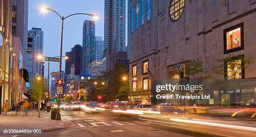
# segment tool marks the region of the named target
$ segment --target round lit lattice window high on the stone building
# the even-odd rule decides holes
[[[169,15],[173,21],[177,21],[184,10],[185,0],[171,0],[169,5]]]

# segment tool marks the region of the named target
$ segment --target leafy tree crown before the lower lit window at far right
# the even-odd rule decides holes
[[[228,55],[225,58],[216,60],[218,65],[213,68],[213,72],[224,76],[225,79],[242,78],[242,70],[248,68],[255,63],[255,59],[251,59],[244,55]]]

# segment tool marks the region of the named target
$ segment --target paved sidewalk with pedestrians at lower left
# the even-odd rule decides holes
[[[40,118],[37,117],[38,111],[31,110],[28,116],[20,112],[15,116],[15,112],[8,112],[7,115],[0,115],[0,127],[11,129],[41,129],[43,131],[56,130],[71,127],[73,124],[69,120],[61,117],[61,120],[51,120],[51,113],[41,111]]]

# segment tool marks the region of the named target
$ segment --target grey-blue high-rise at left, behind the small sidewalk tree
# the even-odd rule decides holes
[[[41,75],[43,59],[38,59],[38,55],[43,54],[44,32],[41,28],[32,27],[28,31],[27,45],[27,70],[29,77]]]

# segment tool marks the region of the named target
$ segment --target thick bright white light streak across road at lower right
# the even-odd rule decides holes
[[[191,124],[225,127],[225,128],[236,129],[236,130],[247,130],[247,131],[256,132],[255,127],[244,127],[244,126],[237,126],[237,125],[228,125],[228,124],[220,124],[220,123],[212,123],[212,122],[202,122],[202,121],[194,121],[194,120],[180,120],[180,119],[174,119],[174,118],[171,118],[170,120],[175,121],[175,122],[185,122],[185,123],[191,123]]]

